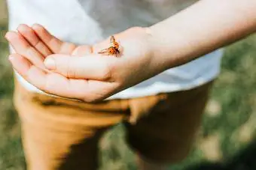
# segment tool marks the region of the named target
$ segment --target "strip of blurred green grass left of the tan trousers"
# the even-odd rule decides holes
[[[25,167],[20,142],[20,124],[12,103],[13,73],[8,63],[8,44],[3,38],[6,24],[0,25],[0,169],[22,170]]]

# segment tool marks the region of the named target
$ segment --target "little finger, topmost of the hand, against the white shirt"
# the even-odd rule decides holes
[[[53,53],[72,54],[73,50],[76,48],[74,43],[66,43],[54,37],[42,25],[32,25],[32,29]]]

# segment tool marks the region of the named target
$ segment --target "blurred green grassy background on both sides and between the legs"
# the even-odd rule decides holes
[[[0,170],[25,170],[20,121],[12,103],[5,1],[0,0]],[[254,65],[255,64],[255,65]],[[228,46],[193,151],[174,170],[256,169],[256,36]],[[102,170],[135,170],[117,125],[101,142]]]

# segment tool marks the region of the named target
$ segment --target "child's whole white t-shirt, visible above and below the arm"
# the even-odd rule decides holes
[[[61,40],[93,44],[126,28],[153,25],[196,1],[8,0],[9,29],[15,30],[21,23],[39,23]],[[218,76],[222,54],[219,49],[190,63],[166,70],[109,99],[144,97],[203,85]],[[30,91],[42,92],[17,76]]]

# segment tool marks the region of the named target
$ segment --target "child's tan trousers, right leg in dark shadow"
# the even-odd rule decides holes
[[[97,169],[99,139],[120,122],[126,126],[127,142],[138,154],[155,162],[178,162],[190,151],[211,85],[82,103],[32,93],[16,82],[14,103],[28,169]]]

